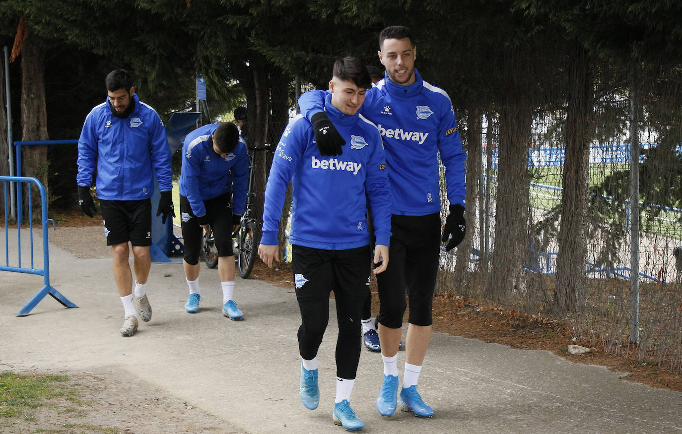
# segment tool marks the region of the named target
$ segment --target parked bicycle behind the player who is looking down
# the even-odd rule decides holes
[[[242,279],[246,279],[251,274],[256,263],[256,256],[258,255],[258,221],[252,216],[252,202],[256,197],[253,191],[254,184],[254,151],[265,151],[266,146],[249,149],[249,181],[248,193],[246,195],[246,206],[244,206],[244,213],[241,215],[239,229],[233,234],[233,250],[235,252],[235,262],[237,264],[237,273]],[[216,268],[218,266],[218,248],[216,247],[213,232],[207,232],[203,236],[202,249],[204,251],[204,260],[208,268]]]

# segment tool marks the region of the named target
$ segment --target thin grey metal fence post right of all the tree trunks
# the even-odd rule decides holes
[[[630,342],[639,342],[639,127],[637,65],[630,74]]]

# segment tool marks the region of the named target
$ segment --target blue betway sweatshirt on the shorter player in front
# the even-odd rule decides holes
[[[322,157],[308,119],[299,114],[286,126],[265,188],[261,243],[278,244],[284,193],[293,179],[291,244],[327,250],[368,245],[369,201],[376,244],[389,245],[391,191],[379,131],[358,114],[336,110],[331,95],[325,111],[348,144],[342,155]]]

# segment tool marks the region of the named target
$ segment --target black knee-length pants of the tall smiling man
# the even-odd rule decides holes
[[[391,233],[388,266],[376,275],[379,322],[389,328],[402,326],[407,292],[409,323],[430,326],[441,254],[441,214],[393,215]]]

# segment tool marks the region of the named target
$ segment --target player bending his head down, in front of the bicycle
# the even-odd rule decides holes
[[[186,136],[178,187],[185,243],[183,266],[190,287],[185,309],[189,313],[198,311],[201,300],[199,253],[202,232],[213,231],[218,248],[222,313],[231,320],[243,319],[233,297],[235,253],[231,234],[237,232],[244,213],[248,177],[249,157],[237,125],[204,125]]]

